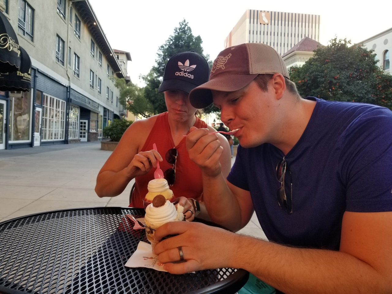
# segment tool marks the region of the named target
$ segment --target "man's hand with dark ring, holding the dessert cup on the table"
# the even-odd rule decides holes
[[[161,240],[169,234],[179,235],[160,241],[155,245],[154,253],[171,274],[232,267],[230,261],[236,256],[238,235],[202,223],[171,221],[159,227],[154,238]],[[180,260],[180,246],[186,262],[174,264],[172,262]]]

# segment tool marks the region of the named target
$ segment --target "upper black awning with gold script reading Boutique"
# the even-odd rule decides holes
[[[20,69],[19,48],[14,29],[0,12],[0,73],[15,73]]]

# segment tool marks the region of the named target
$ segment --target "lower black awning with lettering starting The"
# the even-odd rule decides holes
[[[0,73],[0,91],[30,91],[31,89],[31,60],[29,54],[19,47],[20,71],[16,73]]]

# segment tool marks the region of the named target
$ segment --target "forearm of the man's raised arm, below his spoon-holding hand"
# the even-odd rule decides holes
[[[203,201],[214,223],[234,232],[243,227],[240,207],[222,174],[216,177],[203,174]]]

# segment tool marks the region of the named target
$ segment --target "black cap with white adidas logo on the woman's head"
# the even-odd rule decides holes
[[[177,53],[166,64],[158,92],[179,90],[189,93],[208,82],[209,76],[210,66],[202,55],[194,51]]]

